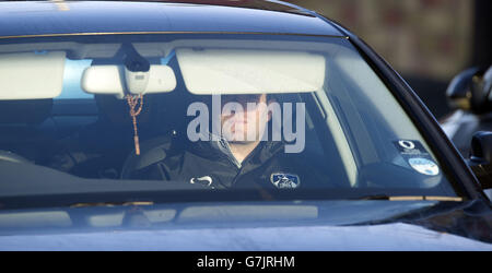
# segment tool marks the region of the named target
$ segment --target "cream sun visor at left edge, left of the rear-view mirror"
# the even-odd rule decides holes
[[[63,85],[65,51],[0,54],[0,99],[54,98]]]

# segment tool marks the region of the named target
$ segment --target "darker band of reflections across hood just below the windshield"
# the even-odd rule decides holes
[[[304,223],[353,225],[385,221],[432,207],[436,202],[329,201],[273,202],[271,204],[179,204],[179,205],[96,205],[66,210],[3,211],[0,233],[45,228],[132,228],[172,227],[173,225],[263,225]]]

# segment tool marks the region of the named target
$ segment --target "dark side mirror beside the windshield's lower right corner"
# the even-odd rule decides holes
[[[482,189],[492,189],[492,132],[478,131],[473,134],[468,163]]]

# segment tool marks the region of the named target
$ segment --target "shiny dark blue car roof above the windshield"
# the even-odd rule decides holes
[[[0,38],[190,32],[344,36],[315,13],[280,1],[0,2]]]

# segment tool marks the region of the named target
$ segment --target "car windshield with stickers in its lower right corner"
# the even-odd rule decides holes
[[[152,192],[175,202],[221,192],[231,200],[459,199],[440,158],[344,37],[5,38],[0,71],[7,207]]]

